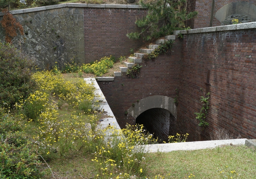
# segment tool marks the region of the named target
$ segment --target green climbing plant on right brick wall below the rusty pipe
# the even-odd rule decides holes
[[[210,93],[206,94],[208,97],[203,97],[201,96],[200,101],[203,103],[202,108],[199,113],[194,113],[196,114],[196,119],[199,121],[198,126],[202,127],[202,130],[204,130],[205,127],[209,126],[209,123],[205,121],[206,115],[208,113],[209,109],[209,101],[210,99]]]

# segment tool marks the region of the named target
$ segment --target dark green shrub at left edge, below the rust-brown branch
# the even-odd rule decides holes
[[[34,66],[32,58],[0,42],[0,106],[12,107],[34,91],[35,81],[30,78]]]

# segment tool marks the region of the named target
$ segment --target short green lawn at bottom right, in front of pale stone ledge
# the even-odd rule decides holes
[[[219,169],[235,170],[237,178],[255,178],[255,148],[224,146],[196,151],[173,151],[153,153],[147,157],[147,176],[168,175],[167,178],[184,178],[190,174],[195,178],[221,178]]]

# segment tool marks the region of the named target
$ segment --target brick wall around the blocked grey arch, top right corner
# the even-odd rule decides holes
[[[192,0],[194,1],[194,0]],[[215,0],[214,13],[226,4],[236,2],[237,0]],[[240,0],[247,1],[256,5],[255,0]],[[197,18],[194,21],[194,28],[209,27],[211,16],[212,0],[196,0],[195,10],[198,12]],[[220,21],[213,19],[212,26],[220,26]]]

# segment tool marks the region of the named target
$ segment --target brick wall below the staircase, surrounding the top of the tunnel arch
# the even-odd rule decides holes
[[[160,55],[155,61],[143,63],[139,78],[115,77],[112,82],[98,82],[121,128],[135,120],[124,115],[137,99],[148,96],[163,95],[175,97],[175,89],[179,85],[180,42],[172,48],[171,55]],[[123,86],[123,85],[124,86]]]

